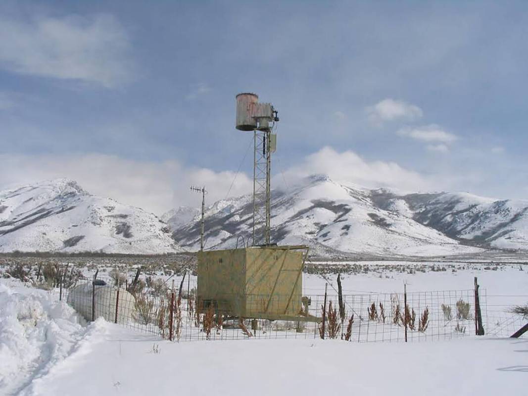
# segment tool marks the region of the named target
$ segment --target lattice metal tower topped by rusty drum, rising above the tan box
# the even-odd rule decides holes
[[[277,147],[277,135],[271,131],[277,121],[270,103],[259,103],[254,93],[237,95],[236,127],[254,134],[253,245],[270,244],[271,153]]]

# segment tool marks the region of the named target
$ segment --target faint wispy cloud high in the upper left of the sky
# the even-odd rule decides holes
[[[0,19],[0,67],[112,87],[131,77],[129,39],[111,15]]]

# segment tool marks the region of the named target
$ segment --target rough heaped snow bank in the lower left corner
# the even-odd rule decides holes
[[[16,394],[67,356],[84,320],[44,290],[0,280],[0,394]]]

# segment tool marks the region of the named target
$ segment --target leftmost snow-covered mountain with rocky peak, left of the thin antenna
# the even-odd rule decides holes
[[[58,179],[0,192],[0,252],[181,251],[152,213]]]

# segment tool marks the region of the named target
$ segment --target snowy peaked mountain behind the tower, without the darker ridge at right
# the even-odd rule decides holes
[[[307,178],[288,192],[274,192],[272,241],[307,243],[316,251],[327,249],[361,254],[441,256],[480,251],[460,245],[444,233],[413,220],[405,202],[380,208],[366,188],[337,183],[327,176]],[[239,235],[247,239],[252,227],[252,201],[243,196],[215,203],[206,218],[206,247],[227,248]],[[215,212],[213,208],[222,208]],[[199,225],[176,229],[173,238],[197,248]],[[241,240],[240,240],[241,242]]]

